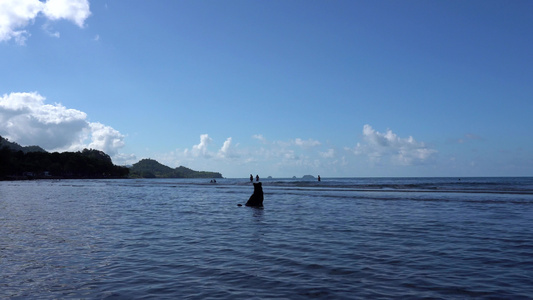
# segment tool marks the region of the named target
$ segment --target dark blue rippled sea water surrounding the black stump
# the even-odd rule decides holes
[[[0,299],[533,299],[533,178],[0,182]]]

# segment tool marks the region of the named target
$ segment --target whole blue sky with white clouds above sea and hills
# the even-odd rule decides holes
[[[224,177],[533,176],[533,1],[0,0],[0,135]]]

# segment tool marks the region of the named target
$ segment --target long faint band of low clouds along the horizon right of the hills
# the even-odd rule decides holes
[[[260,172],[264,176],[324,173],[361,176],[363,173],[354,172],[361,172],[359,168],[368,166],[368,162],[395,168],[435,161],[437,151],[412,136],[402,138],[392,130],[381,133],[370,125],[364,125],[362,133],[361,141],[353,148],[338,148],[312,138],[269,140],[262,134],[251,136],[252,143],[245,140],[246,144],[242,145],[232,137],[216,141],[209,134],[202,134],[198,144],[163,154],[159,159],[170,166],[184,164],[196,169],[218,170],[230,177],[248,172]],[[364,172],[379,174],[371,169]]]

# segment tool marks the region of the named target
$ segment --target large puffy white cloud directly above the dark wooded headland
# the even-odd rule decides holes
[[[0,97],[0,135],[48,151],[92,148],[112,157],[124,146],[124,135],[112,127],[88,122],[86,113],[45,100],[36,92]]]

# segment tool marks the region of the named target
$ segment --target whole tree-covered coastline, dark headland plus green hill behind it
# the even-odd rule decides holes
[[[21,146],[0,136],[0,180],[100,178],[223,178],[218,172],[172,169],[153,159],[131,168],[114,165],[100,150],[49,153],[39,146]]]

